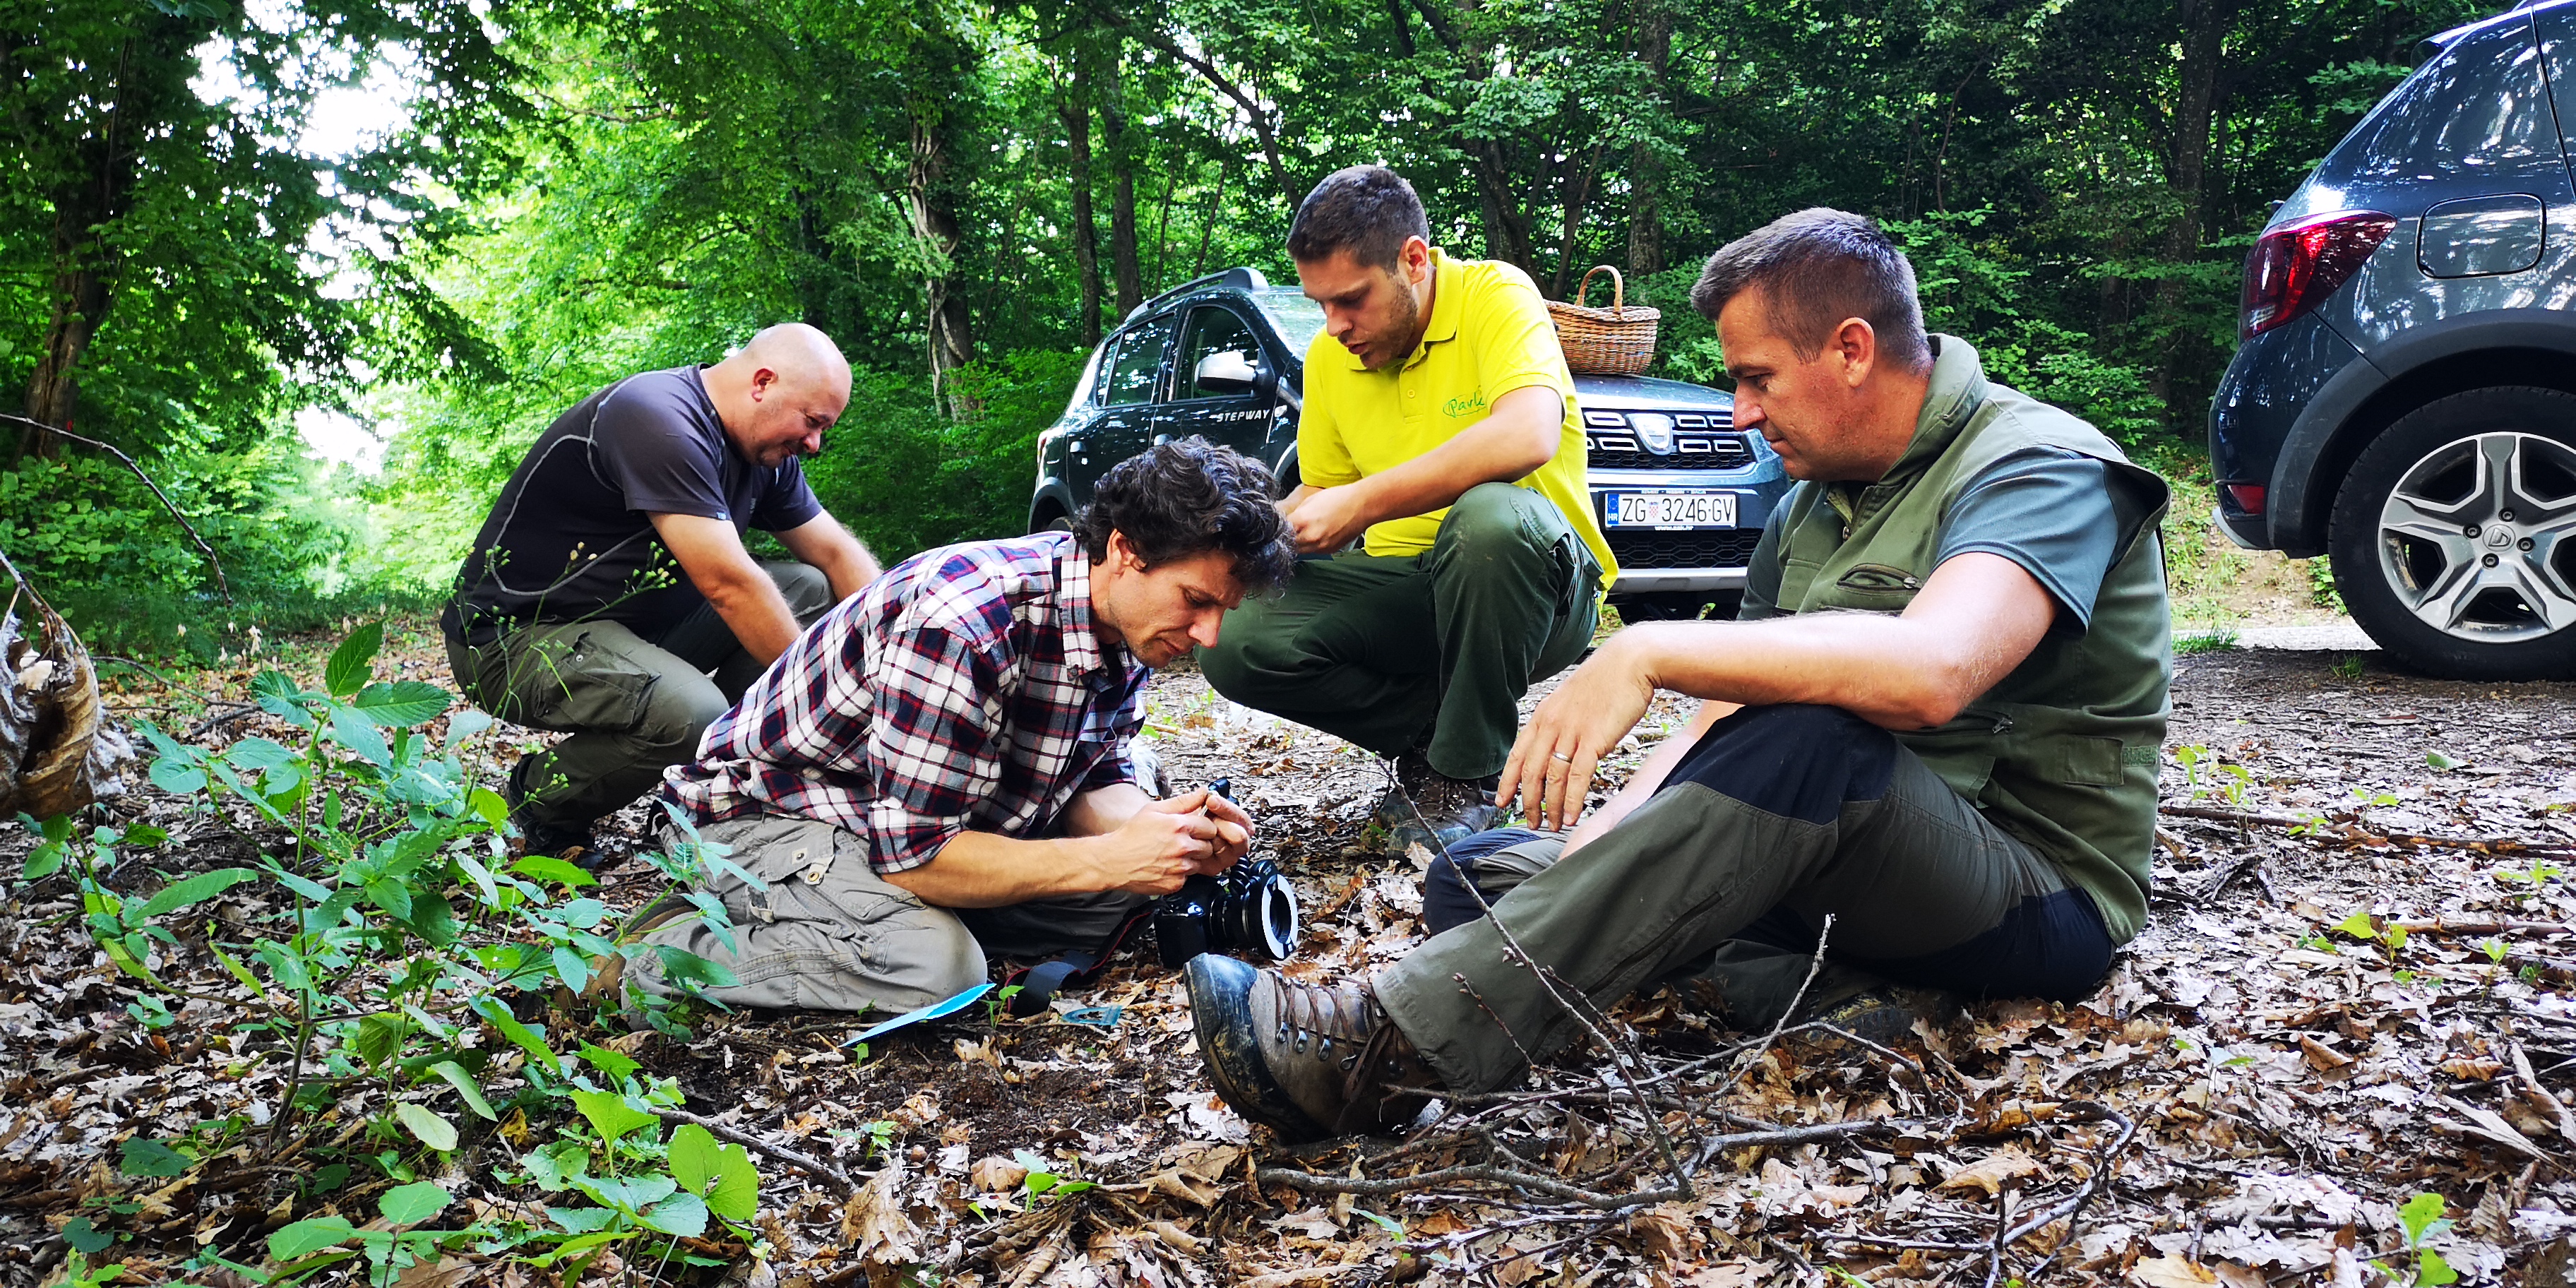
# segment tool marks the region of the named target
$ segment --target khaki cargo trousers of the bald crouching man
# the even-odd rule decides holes
[[[832,582],[806,564],[760,564],[799,626],[832,608]],[[590,827],[662,783],[662,770],[698,752],[698,734],[765,670],[701,603],[662,631],[623,621],[523,626],[492,644],[448,639],[456,688],[484,711],[564,742],[510,770],[520,827]]]

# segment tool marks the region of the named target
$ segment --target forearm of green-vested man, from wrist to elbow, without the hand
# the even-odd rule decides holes
[[[1741,706],[1839,706],[1880,729],[1947,724],[2009,665],[1960,657],[1955,631],[1878,613],[1801,613],[1767,621],[1654,621],[1602,652],[1649,688]]]

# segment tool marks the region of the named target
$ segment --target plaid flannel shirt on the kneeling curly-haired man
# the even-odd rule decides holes
[[[698,824],[829,822],[899,873],[958,832],[1036,837],[1077,793],[1133,783],[1149,675],[1100,647],[1072,533],[933,549],[796,639],[662,796]]]

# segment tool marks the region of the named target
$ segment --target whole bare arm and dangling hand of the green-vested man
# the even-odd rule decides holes
[[[2022,665],[2053,618],[2056,600],[2030,572],[1971,551],[1932,569],[1893,618],[1801,613],[1631,626],[1538,703],[1494,799],[1525,793],[1533,817],[1574,824],[1592,768],[1659,688],[1747,706],[1839,706],[1883,729],[1947,724]]]

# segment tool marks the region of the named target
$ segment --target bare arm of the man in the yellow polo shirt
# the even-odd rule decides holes
[[[1512,389],[1494,412],[1401,466],[1340,487],[1298,487],[1280,502],[1303,554],[1337,551],[1370,523],[1427,515],[1468,487],[1525,479],[1556,459],[1566,399],[1548,386]]]

